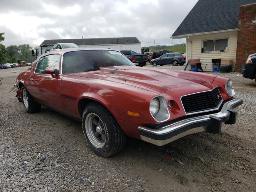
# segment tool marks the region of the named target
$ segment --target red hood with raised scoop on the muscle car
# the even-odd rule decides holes
[[[202,84],[206,80],[180,70],[162,70],[146,67],[113,66],[99,71],[70,74],[135,86],[151,92],[164,93],[167,89]],[[216,76],[210,76],[210,82]],[[209,81],[209,78],[208,78]]]

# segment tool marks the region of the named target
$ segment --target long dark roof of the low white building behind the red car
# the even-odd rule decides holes
[[[108,44],[136,44],[140,41],[136,37],[118,37],[118,38],[92,38],[92,39],[48,39],[41,45],[54,45],[56,43],[75,43],[81,45],[108,45]]]

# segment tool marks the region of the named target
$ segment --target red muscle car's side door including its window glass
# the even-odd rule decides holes
[[[56,77],[46,74],[46,69],[54,69]],[[28,92],[38,102],[54,108],[60,112],[66,112],[60,96],[61,78],[60,54],[50,54],[38,60],[33,74],[28,83]]]

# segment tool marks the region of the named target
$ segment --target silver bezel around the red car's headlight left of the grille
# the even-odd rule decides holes
[[[159,100],[160,107],[159,107],[158,112],[156,114],[154,114],[154,116],[153,116],[152,113],[150,112],[150,103],[155,98],[157,98]],[[166,100],[163,96],[156,96],[156,97],[152,98],[150,100],[150,103],[149,103],[149,113],[152,116],[152,118],[154,118],[154,120],[156,122],[164,122],[170,118],[170,112],[168,110]]]

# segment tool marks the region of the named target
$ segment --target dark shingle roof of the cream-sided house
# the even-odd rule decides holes
[[[239,6],[256,0],[199,0],[172,36],[238,28]]]

